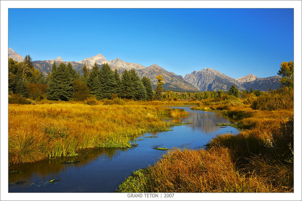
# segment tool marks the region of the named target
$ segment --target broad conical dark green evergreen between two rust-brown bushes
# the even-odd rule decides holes
[[[68,101],[73,93],[72,76],[64,63],[60,63],[50,76],[47,88],[47,99]]]

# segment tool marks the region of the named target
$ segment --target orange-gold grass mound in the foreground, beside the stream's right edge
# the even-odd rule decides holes
[[[132,173],[117,192],[271,192],[257,175],[239,173],[227,148],[173,149],[145,170]]]

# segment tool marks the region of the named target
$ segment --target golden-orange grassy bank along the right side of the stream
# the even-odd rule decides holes
[[[202,101],[198,107],[220,109],[243,131],[217,135],[206,151],[170,150],[154,165],[134,171],[117,192],[293,192],[291,100],[287,109],[274,110],[244,102]]]

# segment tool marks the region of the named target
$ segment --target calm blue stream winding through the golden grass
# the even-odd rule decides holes
[[[219,113],[190,110],[191,106],[174,106],[189,112],[173,131],[145,133],[138,139],[138,146],[128,149],[94,149],[80,157],[62,157],[24,165],[20,174],[8,175],[9,192],[112,192],[133,170],[154,164],[166,151],[157,147],[203,148],[216,134],[233,133],[236,128],[220,128],[217,123],[235,123]],[[203,118],[201,118],[203,117]],[[157,138],[144,138],[157,136]],[[80,160],[77,164],[61,164],[64,160]],[[50,180],[57,180],[50,183]],[[15,184],[18,181],[25,183]]]

